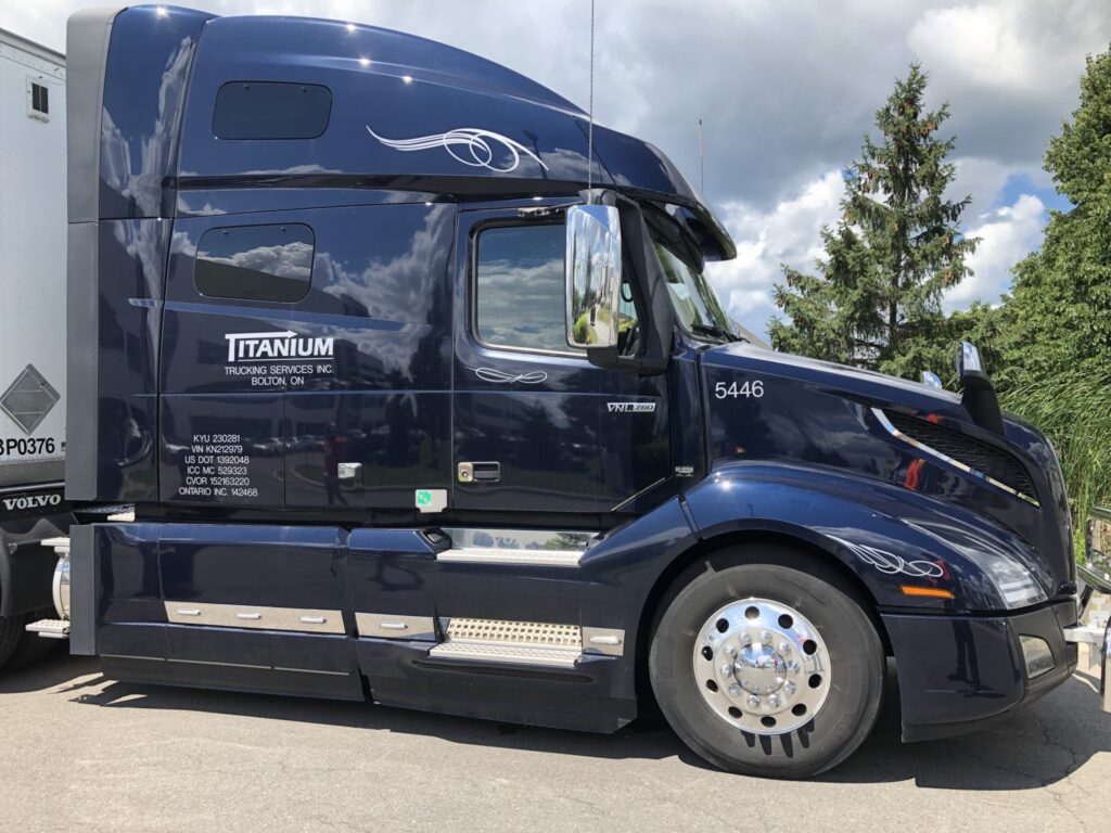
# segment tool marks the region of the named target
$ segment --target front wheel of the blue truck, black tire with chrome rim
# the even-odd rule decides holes
[[[761,548],[718,554],[679,586],[658,620],[649,675],[694,752],[731,772],[800,779],[864,741],[880,711],[883,646],[833,571]]]

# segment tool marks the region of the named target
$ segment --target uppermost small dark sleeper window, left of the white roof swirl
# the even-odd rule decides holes
[[[216,96],[212,132],[219,139],[316,139],[331,110],[327,87],[232,81]]]

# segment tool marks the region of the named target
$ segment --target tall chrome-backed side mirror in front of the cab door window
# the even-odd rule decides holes
[[[567,342],[577,348],[618,343],[621,302],[621,219],[613,205],[567,211]]]

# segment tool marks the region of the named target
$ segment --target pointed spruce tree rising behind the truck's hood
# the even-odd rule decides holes
[[[952,363],[943,345],[954,322],[941,295],[969,273],[977,241],[958,229],[971,198],[944,197],[954,140],[938,138],[949,108],[925,110],[925,87],[912,64],[877,111],[882,140],[865,136],[844,172],[841,219],[822,230],[818,274],[783,268],[774,297],[788,320],[769,325],[775,349],[898,375]]]

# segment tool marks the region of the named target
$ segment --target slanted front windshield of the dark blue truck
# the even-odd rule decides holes
[[[645,212],[655,257],[663,267],[668,294],[684,330],[733,341],[733,330],[721,302],[702,271],[702,257],[674,221]]]

